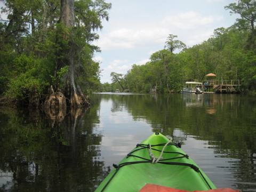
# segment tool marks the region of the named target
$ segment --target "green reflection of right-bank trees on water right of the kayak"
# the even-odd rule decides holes
[[[255,98],[225,94],[171,94],[157,97],[154,94],[102,94],[95,97],[111,100],[116,110],[123,111],[125,107],[134,121],[145,119],[152,132],[162,132],[187,145],[193,145],[191,141],[186,141],[188,137],[205,141],[215,154],[213,158],[223,158],[222,163],[228,164],[227,167],[219,167],[212,159],[214,169],[226,170],[229,174],[228,179],[233,183],[230,187],[255,191]],[[177,135],[177,132],[182,134]],[[199,155],[201,151],[197,153]],[[201,159],[198,161],[205,163]],[[209,171],[209,174],[214,172]],[[219,184],[225,187],[226,176],[222,177]]]

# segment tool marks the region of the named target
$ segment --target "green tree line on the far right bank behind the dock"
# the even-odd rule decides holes
[[[214,73],[219,80],[239,79],[243,91],[255,92],[256,2],[236,1],[225,9],[240,15],[234,25],[215,29],[207,41],[192,47],[171,34],[164,49],[151,54],[149,62],[134,64],[124,75],[111,73],[113,82],[102,84],[101,90],[171,93],[180,91],[186,81],[202,82],[206,74]]]

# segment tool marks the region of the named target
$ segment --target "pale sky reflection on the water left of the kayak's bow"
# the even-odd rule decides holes
[[[122,103],[120,103],[122,105]],[[100,131],[103,135],[101,142],[101,156],[106,166],[118,163],[121,159],[151,134],[151,127],[145,122],[134,121],[126,108],[113,109],[113,100],[101,100],[100,103]]]

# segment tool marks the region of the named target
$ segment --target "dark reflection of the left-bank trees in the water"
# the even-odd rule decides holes
[[[102,135],[92,126],[97,110],[65,118],[1,110],[0,190],[94,191],[109,172],[100,160]]]

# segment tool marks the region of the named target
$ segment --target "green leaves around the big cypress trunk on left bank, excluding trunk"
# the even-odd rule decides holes
[[[92,42],[99,38],[95,30],[102,29],[102,20],[108,20],[110,3],[75,1],[74,28],[59,22],[60,1],[4,3],[1,11],[9,21],[0,23],[0,95],[23,100],[34,91],[47,94],[50,85],[63,88],[71,45],[75,47],[76,83],[85,93],[99,89],[100,67],[92,58],[100,48]]]

